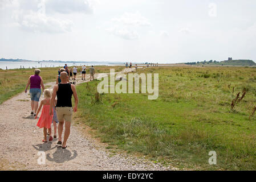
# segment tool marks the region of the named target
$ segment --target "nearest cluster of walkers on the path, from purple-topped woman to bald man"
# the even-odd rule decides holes
[[[59,76],[57,77],[56,84],[53,90],[45,89],[43,79],[40,77],[40,69],[35,69],[35,74],[29,77],[26,85],[30,86],[30,98],[31,98],[31,115],[34,115],[35,119],[38,118],[38,114],[42,109],[40,118],[36,126],[43,128],[43,140],[47,142],[47,134],[50,135],[49,142],[53,140],[51,124],[54,125],[54,138],[56,138],[58,128],[58,143],[62,145],[62,148],[67,147],[67,139],[70,135],[70,126],[72,122],[72,113],[78,110],[78,94],[74,84],[70,83],[70,73],[74,73],[74,79],[78,69],[74,67],[70,71],[65,65],[64,68],[59,69]],[[73,78],[72,78],[73,80]],[[41,88],[43,91],[44,99],[40,102],[38,108],[38,102],[41,96]],[[75,99],[75,105],[72,107],[72,96]],[[57,99],[56,99],[57,97]],[[59,123],[57,127],[57,123]],[[63,126],[65,125],[64,139],[62,141]]]

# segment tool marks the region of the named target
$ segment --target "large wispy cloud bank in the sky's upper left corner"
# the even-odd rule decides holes
[[[12,18],[15,22],[11,24],[24,30],[47,33],[70,32],[72,30],[71,20],[56,18],[52,13],[61,13],[59,10],[62,8],[63,13],[90,13],[91,5],[88,1],[62,1],[63,3],[59,0],[10,0],[5,1],[5,5],[8,5],[8,10],[13,12]],[[56,5],[55,9],[54,5]],[[46,13],[47,7],[51,10],[51,14]]]

